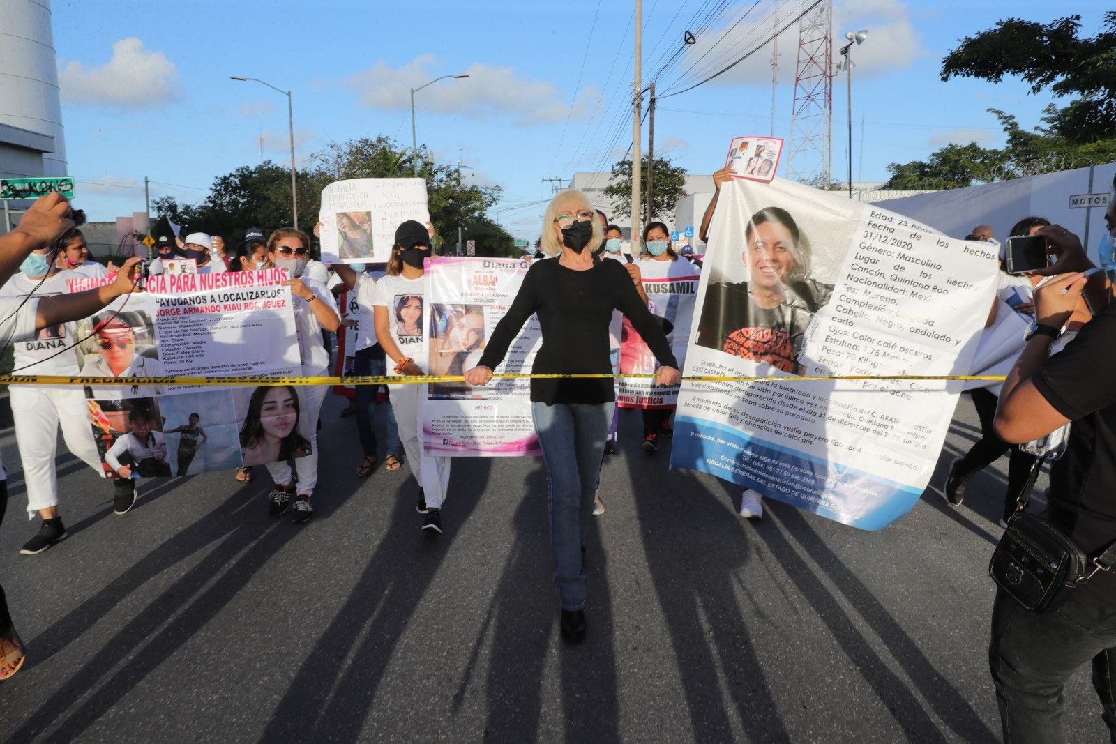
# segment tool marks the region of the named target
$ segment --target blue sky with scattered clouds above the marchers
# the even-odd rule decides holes
[[[533,238],[543,209],[533,202],[550,195],[543,178],[607,171],[631,145],[634,4],[54,0],[76,204],[90,219],[110,220],[144,210],[144,176],[153,199],[195,202],[214,177],[256,165],[261,154],[288,163],[286,96],[232,75],[292,90],[301,165],[328,143],[353,137],[410,144],[410,88],[469,74],[416,95],[419,142],[441,162],[460,161],[475,182],[502,186],[504,201],[490,214],[516,236]],[[700,28],[719,4],[644,0],[645,85],[681,48],[683,31]],[[786,19],[804,4],[729,3],[663,73],[660,91],[686,87],[757,48],[776,13]],[[987,0],[835,1],[835,55],[845,31],[869,32],[853,52],[854,181],[883,181],[888,163],[924,158],[949,142],[1002,144],[988,108],[1016,114],[1024,127],[1039,124],[1051,98],[1029,95],[1019,80],[939,79],[956,40],[992,28],[1003,8]],[[1068,12],[1048,2],[1010,8],[1036,21]],[[1101,3],[1079,3],[1076,12],[1084,33],[1098,30]],[[778,40],[773,126],[768,45],[715,80],[662,98],[656,154],[710,173],[734,136],[787,137],[797,45],[797,26]],[[834,84],[838,180],[847,171],[844,79]]]

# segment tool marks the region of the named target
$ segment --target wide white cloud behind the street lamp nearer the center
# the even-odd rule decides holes
[[[346,87],[359,94],[359,104],[385,110],[407,110],[411,88],[439,77],[433,55],[422,55],[398,69],[376,62],[364,73],[345,80]],[[456,74],[456,73],[455,73]],[[573,107],[569,95],[546,80],[525,78],[510,67],[493,67],[473,62],[460,74],[468,79],[442,80],[415,94],[415,108],[488,119],[510,116],[518,125],[554,124],[585,119],[600,97],[594,87],[578,91]]]

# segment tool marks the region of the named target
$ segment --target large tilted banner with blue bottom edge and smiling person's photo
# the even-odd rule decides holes
[[[721,189],[671,465],[865,530],[905,514],[937,461],[989,315],[998,255],[783,180]]]

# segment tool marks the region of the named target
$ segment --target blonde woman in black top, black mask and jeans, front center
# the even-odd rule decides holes
[[[632,277],[616,261],[595,254],[604,231],[579,191],[556,195],[542,220],[542,250],[552,260],[531,264],[519,293],[489,339],[480,364],[465,373],[470,385],[487,385],[492,370],[531,315],[538,315],[542,347],[532,373],[597,374],[599,378],[531,379],[531,415],[547,466],[550,551],[561,603],[562,638],[585,638],[583,524],[593,509],[605,437],[616,406],[608,323],[614,309],[633,327],[662,365],[656,385],[677,385],[682,374],[666,335],[644,306]],[[588,250],[586,250],[588,249]]]

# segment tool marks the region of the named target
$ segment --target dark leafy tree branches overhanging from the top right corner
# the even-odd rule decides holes
[[[1080,16],[1042,25],[1018,18],[961,39],[942,60],[942,80],[975,77],[999,83],[1021,77],[1031,93],[1049,88],[1058,97],[1076,96],[1048,110],[1048,134],[1085,144],[1116,138],[1116,11],[1107,11],[1101,30],[1081,37]]]

